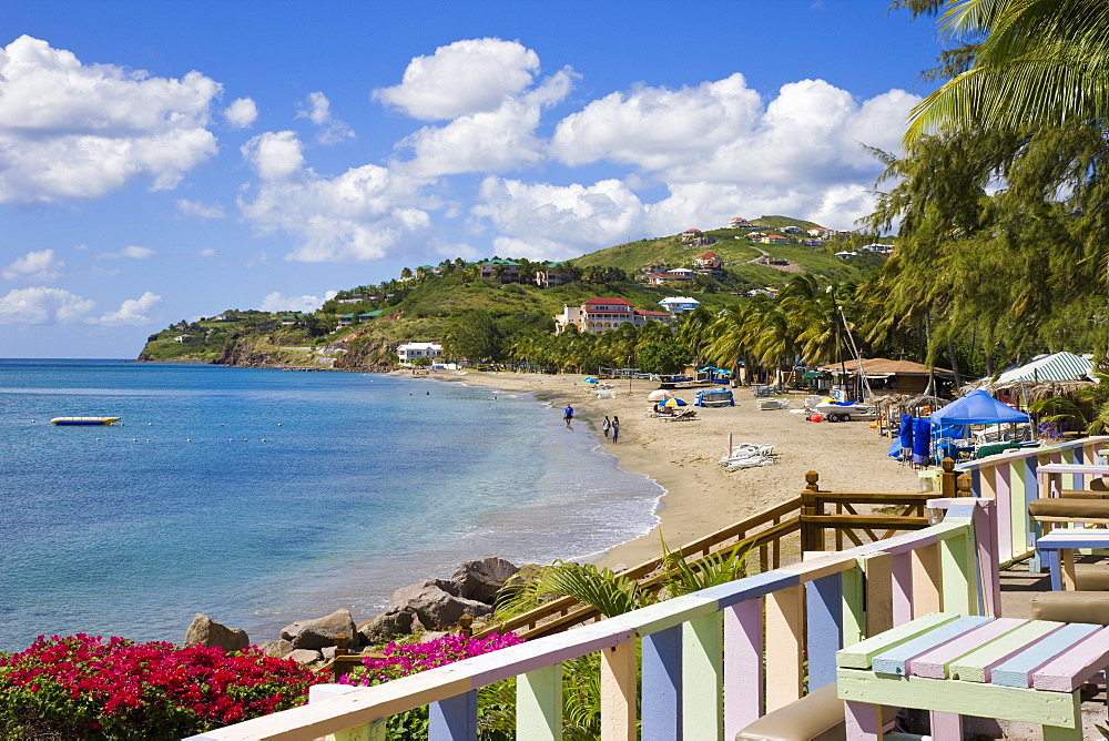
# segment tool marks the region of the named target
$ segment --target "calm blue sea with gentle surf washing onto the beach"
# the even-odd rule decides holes
[[[0,651],[363,620],[470,558],[633,538],[661,494],[530,396],[369,374],[0,361]]]

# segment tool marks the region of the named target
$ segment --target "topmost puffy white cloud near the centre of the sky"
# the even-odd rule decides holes
[[[517,41],[467,39],[408,64],[399,85],[374,97],[425,121],[497,109],[531,84],[539,55]]]

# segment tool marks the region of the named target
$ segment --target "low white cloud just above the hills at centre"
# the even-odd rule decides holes
[[[647,210],[623,183],[566,187],[487,177],[474,215],[501,236],[495,252],[566,258],[643,236]]]

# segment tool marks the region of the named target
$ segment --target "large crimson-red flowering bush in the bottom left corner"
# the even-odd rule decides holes
[[[256,649],[40,636],[0,656],[0,738],[180,739],[294,708],[326,679]]]

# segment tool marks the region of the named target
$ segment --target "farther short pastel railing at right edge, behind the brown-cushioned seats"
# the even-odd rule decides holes
[[[970,474],[975,496],[997,503],[998,549],[1003,564],[1034,555],[1036,530],[1028,518],[1028,503],[1040,496],[1036,468],[1040,464],[1099,463],[1097,451],[1109,445],[1109,436],[1086,437],[1042,448],[1018,449],[980,460],[958,464]],[[1064,476],[1064,488],[1081,489],[1081,476]]]

